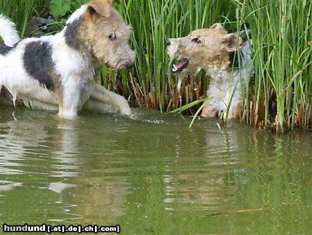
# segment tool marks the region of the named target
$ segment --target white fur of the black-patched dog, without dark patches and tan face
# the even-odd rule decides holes
[[[86,9],[87,6],[82,6],[76,10],[67,24],[78,19]],[[13,104],[19,98],[29,108],[58,109],[62,117],[75,117],[84,104],[86,108],[96,111],[119,111],[123,115],[130,115],[128,102],[121,95],[96,85],[92,58],[86,58],[66,44],[65,29],[53,36],[26,38],[19,42],[14,24],[0,15],[0,36],[5,44],[12,47],[19,42],[8,54],[0,54],[0,92],[4,86],[12,95]],[[44,88],[27,74],[23,55],[29,42],[49,42],[52,46],[52,60],[63,88],[62,104],[58,94]]]

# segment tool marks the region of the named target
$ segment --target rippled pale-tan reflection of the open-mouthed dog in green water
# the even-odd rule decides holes
[[[243,160],[240,155],[244,154],[240,149],[248,145],[248,135],[242,136],[241,129],[219,131],[216,125],[210,125],[207,129],[210,131],[197,136],[195,141],[189,140],[191,143],[180,145],[180,161],[190,161],[190,166],[197,170],[190,168],[164,175],[164,202],[168,203],[168,211],[223,210],[232,203],[239,191],[233,177],[247,170],[239,164]],[[248,133],[249,130],[244,131]],[[195,154],[185,154],[187,149],[184,148],[189,148],[189,145],[193,145]],[[238,154],[239,151],[241,154]],[[205,157],[198,157],[198,154]]]

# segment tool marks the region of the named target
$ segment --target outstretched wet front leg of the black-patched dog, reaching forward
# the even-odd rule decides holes
[[[119,111],[122,115],[131,115],[131,108],[123,96],[106,90],[98,84],[95,85],[90,98],[85,103],[85,108],[104,113]]]

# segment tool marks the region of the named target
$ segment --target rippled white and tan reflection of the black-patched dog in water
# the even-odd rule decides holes
[[[12,191],[15,187],[29,186],[58,193],[60,197],[52,203],[58,206],[63,204],[63,209],[58,207],[57,213],[65,213],[67,216],[51,218],[51,222],[92,222],[92,215],[102,214],[110,220],[122,216],[121,205],[125,203],[124,196],[128,188],[123,179],[110,177],[105,181],[103,177],[94,174],[89,177],[88,173],[81,176],[86,173],[83,171],[86,167],[85,157],[96,152],[88,149],[85,155],[85,141],[92,145],[94,136],[90,138],[90,133],[80,129],[82,120],[64,120],[47,113],[26,113],[22,113],[22,116],[15,113],[1,115],[0,179],[14,179],[12,175],[17,174],[22,177],[17,178],[20,181],[0,180],[0,197],[6,197],[4,192]],[[87,138],[80,140],[79,137],[84,138],[85,134]],[[29,177],[33,180],[29,181]],[[70,188],[69,195],[64,193]],[[78,198],[83,206],[76,209],[76,204],[68,203],[71,201],[68,197]],[[34,205],[36,203],[31,202]]]

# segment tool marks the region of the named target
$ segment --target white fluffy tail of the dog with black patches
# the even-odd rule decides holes
[[[15,24],[7,17],[0,14],[0,37],[4,44],[8,47],[14,47],[20,41],[19,33],[16,30]]]

